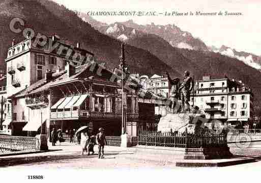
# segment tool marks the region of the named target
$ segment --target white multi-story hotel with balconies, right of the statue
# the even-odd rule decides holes
[[[204,76],[195,83],[191,104],[204,110],[206,118],[230,124],[249,124],[253,115],[253,93],[242,81],[211,79]]]

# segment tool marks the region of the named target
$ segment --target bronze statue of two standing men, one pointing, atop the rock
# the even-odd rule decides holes
[[[190,112],[190,93],[193,89],[193,79],[190,76],[189,71],[185,71],[183,75],[183,82],[180,83],[180,79],[171,79],[169,74],[167,74],[169,83],[171,85],[169,98],[171,100],[170,108],[173,110],[174,107],[178,104],[178,99],[181,99],[181,113],[185,113],[187,111]],[[178,105],[179,106],[179,105]],[[179,109],[177,109],[179,110]],[[175,111],[173,111],[174,113]],[[176,111],[176,113],[179,111]]]

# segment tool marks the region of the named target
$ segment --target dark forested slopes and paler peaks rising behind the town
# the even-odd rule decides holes
[[[190,33],[181,31],[175,25],[140,25],[131,27],[132,21],[106,24],[91,17],[79,17],[79,13],[67,9],[48,0],[3,0],[0,2],[0,67],[5,68],[4,59],[12,40],[22,41],[22,34],[10,31],[12,18],[19,17],[25,21],[24,28],[32,28],[36,33],[59,35],[73,43],[80,41],[83,49],[95,54],[100,62],[106,62],[106,67],[114,69],[119,66],[121,40],[126,42],[126,62],[131,73],[152,75],[164,74],[166,71],[172,77],[181,77],[184,70],[189,70],[195,79],[204,75],[242,80],[253,88],[257,104],[261,111],[261,72],[250,67],[236,57],[228,57],[209,51],[200,39]],[[84,19],[83,19],[84,18]],[[117,24],[117,25],[116,25]],[[179,41],[190,47],[179,47],[175,37],[163,37],[168,30],[172,35],[180,37]],[[22,28],[21,28],[22,29]],[[114,31],[115,30],[115,31]],[[105,32],[104,32],[105,31]],[[124,33],[125,36],[122,35]],[[186,33],[186,35],[185,35]],[[162,35],[161,35],[162,34]],[[183,35],[182,35],[183,34]],[[121,36],[122,35],[122,36]],[[119,37],[120,36],[120,37]],[[166,40],[168,39],[168,40]],[[170,43],[171,41],[171,43]]]

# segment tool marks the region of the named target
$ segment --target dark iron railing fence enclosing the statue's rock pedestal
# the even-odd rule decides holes
[[[226,134],[176,134],[142,131],[138,133],[138,145],[165,147],[226,147]]]

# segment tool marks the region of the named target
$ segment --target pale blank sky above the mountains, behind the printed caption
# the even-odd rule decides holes
[[[98,21],[114,23],[132,19],[138,24],[175,24],[207,45],[226,45],[237,51],[261,55],[261,0],[53,0],[68,9],[96,11],[164,12],[241,12],[241,16],[94,16]]]

